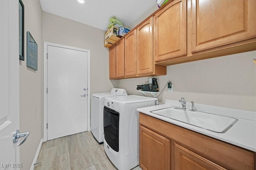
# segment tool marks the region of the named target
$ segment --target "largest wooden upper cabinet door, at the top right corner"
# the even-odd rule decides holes
[[[255,0],[192,0],[192,53],[256,37]]]

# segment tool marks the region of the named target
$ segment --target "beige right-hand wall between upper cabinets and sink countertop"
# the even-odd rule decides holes
[[[156,76],[160,91],[170,80],[174,92],[167,87],[158,97],[212,106],[256,111],[256,51],[167,66],[166,76]],[[118,87],[128,94],[142,95],[136,85],[144,84],[148,78],[118,80]],[[151,94],[148,96],[152,97]]]

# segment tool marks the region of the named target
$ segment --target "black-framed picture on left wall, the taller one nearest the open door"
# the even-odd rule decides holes
[[[24,61],[24,4],[19,0],[19,57]]]

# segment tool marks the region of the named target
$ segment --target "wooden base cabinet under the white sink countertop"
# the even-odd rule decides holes
[[[143,170],[255,170],[256,152],[140,113]]]

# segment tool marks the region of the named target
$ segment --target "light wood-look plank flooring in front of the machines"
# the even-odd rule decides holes
[[[40,161],[34,170],[116,170],[91,131],[44,142],[37,158]]]

